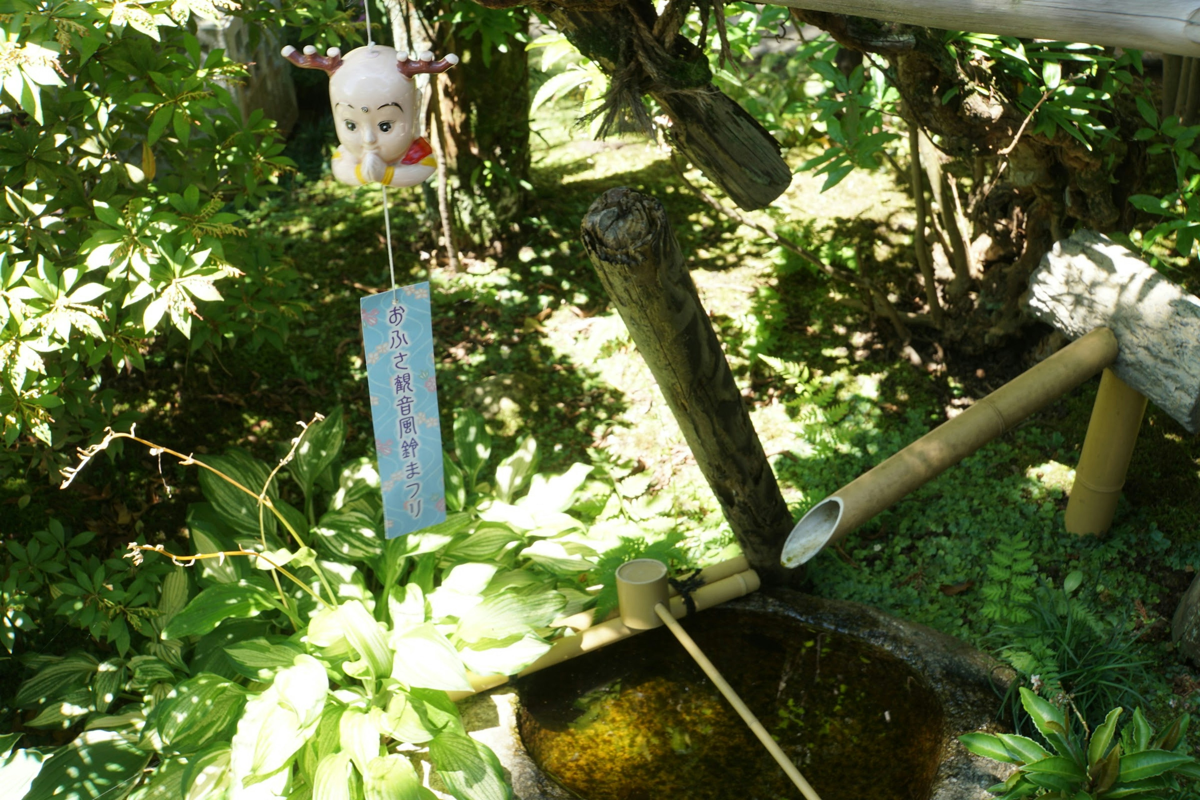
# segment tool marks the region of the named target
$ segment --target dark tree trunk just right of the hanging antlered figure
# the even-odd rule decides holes
[[[515,10],[522,22],[523,8]],[[526,212],[529,185],[529,65],[524,47],[506,53],[463,37],[449,23],[434,31],[436,50],[456,53],[458,67],[439,77],[445,158],[458,230],[467,249],[504,249]]]

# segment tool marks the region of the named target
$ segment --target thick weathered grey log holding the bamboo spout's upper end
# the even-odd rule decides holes
[[[1042,258],[1026,305],[1070,338],[1112,329],[1117,378],[1200,432],[1200,297],[1108,236],[1080,230]]]

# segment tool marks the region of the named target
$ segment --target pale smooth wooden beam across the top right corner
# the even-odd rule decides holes
[[[888,22],[1200,55],[1198,0],[766,0]]]

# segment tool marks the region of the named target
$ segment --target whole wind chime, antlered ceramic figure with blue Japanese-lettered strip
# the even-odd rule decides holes
[[[370,0],[368,0],[370,2]],[[418,136],[418,74],[438,74],[458,62],[454,54],[434,60],[376,44],[367,11],[367,44],[344,56],[308,46],[288,46],[283,58],[329,74],[337,140],[334,178],[350,186],[379,185],[391,289],[360,301],[367,386],[389,539],[445,519],[438,387],[433,372],[433,326],[428,281],[396,285],[391,248],[389,186],[415,186],[437,168],[432,149]]]

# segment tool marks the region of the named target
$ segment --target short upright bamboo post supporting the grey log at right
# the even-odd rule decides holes
[[[1069,533],[1103,534],[1112,524],[1145,413],[1146,396],[1105,369],[1067,501]]]

